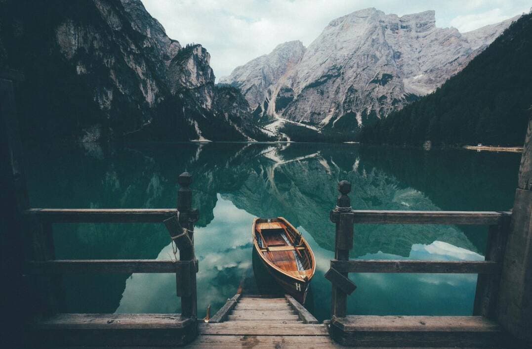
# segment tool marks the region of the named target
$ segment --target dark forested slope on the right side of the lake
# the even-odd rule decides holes
[[[532,14],[434,93],[363,128],[361,142],[520,146],[532,105]]]

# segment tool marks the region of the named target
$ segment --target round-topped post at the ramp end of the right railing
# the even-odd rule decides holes
[[[343,180],[338,183],[340,195],[336,207],[330,212],[330,220],[336,223],[335,259],[349,260],[349,250],[353,248],[353,213],[351,199],[347,194],[351,192],[350,182]],[[348,277],[348,273],[340,273]],[[342,318],[347,314],[347,294],[332,284],[331,317]]]

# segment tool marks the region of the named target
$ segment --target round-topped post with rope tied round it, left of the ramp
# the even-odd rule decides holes
[[[180,185],[177,194],[177,209],[179,211],[179,223],[187,229],[188,238],[192,242],[189,247],[179,250],[180,261],[193,261],[197,265],[196,256],[194,255],[194,223],[197,221],[198,212],[192,209],[192,175],[183,172],[178,177]],[[197,317],[197,300],[196,300],[196,268],[185,269],[187,271],[176,273],[176,282],[187,283],[187,294],[181,295],[181,315],[184,317]],[[188,279],[188,280],[187,280]]]

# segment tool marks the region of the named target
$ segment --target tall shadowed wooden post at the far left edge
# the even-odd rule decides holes
[[[24,287],[23,254],[27,243],[23,240],[24,225],[22,210],[28,208],[26,180],[22,170],[22,146],[15,107],[14,82],[23,76],[12,70],[0,69],[0,268],[4,279],[3,297],[0,306],[10,313],[0,331],[5,347],[23,347],[22,323],[27,313],[22,311],[27,303]],[[10,311],[13,310],[13,311]]]

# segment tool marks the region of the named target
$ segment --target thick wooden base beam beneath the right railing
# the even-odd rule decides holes
[[[500,347],[501,329],[483,317],[348,316],[334,318],[331,335],[352,346]]]

